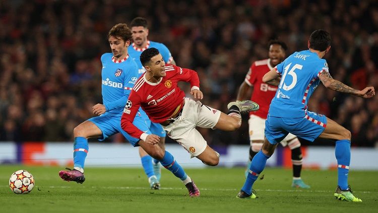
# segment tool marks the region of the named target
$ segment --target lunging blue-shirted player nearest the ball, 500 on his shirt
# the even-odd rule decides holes
[[[85,181],[84,162],[88,153],[88,138],[90,137],[104,140],[106,137],[120,132],[134,147],[147,146],[146,141],[131,137],[120,126],[122,110],[138,76],[138,66],[128,54],[128,46],[131,40],[132,32],[126,24],[117,24],[108,33],[108,41],[112,52],[104,53],[101,56],[103,104],[93,106],[93,114],[99,116],[90,118],[75,127],[74,169],[59,171],[59,176],[63,180],[77,183]],[[146,124],[147,121],[140,115],[139,111],[140,109],[137,109],[137,116],[133,124],[142,129],[142,131],[151,133],[149,126]],[[186,175],[177,162],[173,161],[173,156],[170,153],[164,152],[159,146],[154,146],[147,153],[156,156],[163,166],[180,178],[188,189],[190,196],[200,195],[200,192],[196,191],[197,187],[192,179]],[[155,185],[152,187],[158,188]]]

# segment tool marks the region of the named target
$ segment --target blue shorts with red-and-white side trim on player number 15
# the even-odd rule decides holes
[[[280,143],[290,132],[297,137],[313,141],[319,137],[327,125],[327,117],[316,112],[306,111],[302,118],[282,118],[268,115],[265,121],[265,137],[269,143]]]

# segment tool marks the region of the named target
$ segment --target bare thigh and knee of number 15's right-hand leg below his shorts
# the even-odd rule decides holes
[[[319,135],[321,138],[326,139],[335,139],[335,140],[342,140],[342,139],[351,139],[351,134],[348,129],[343,127],[342,125],[336,123],[330,118],[327,118],[327,126],[322,134]]]

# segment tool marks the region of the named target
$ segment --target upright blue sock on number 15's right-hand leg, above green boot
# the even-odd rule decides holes
[[[348,189],[348,173],[350,164],[350,140],[337,140],[335,147],[337,159],[338,185],[342,190]]]

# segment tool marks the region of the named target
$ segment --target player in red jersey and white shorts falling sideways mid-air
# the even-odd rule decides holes
[[[193,97],[203,98],[199,88],[200,80],[194,70],[175,65],[165,66],[164,59],[156,48],[144,50],[140,60],[146,73],[139,78],[130,93],[121,118],[123,130],[148,144],[159,143],[159,136],[147,134],[132,123],[139,107],[142,107],[151,121],[160,123],[192,158],[196,157],[206,165],[218,165],[219,154],[207,145],[196,127],[233,131],[241,125],[240,112],[258,110],[259,105],[252,101],[231,102],[228,104],[229,112],[225,114],[200,101],[184,97],[177,82],[189,82]],[[153,146],[142,148],[148,151]]]

